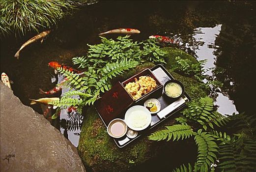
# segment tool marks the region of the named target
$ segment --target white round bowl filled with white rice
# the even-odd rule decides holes
[[[124,121],[132,130],[141,131],[150,125],[151,114],[144,106],[133,106],[126,111]]]

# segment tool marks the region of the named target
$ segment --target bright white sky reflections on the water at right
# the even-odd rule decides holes
[[[204,66],[205,69],[215,67],[216,56],[214,51],[216,37],[220,34],[222,25],[217,25],[214,28],[197,28],[197,32],[194,34],[196,41],[203,41],[203,45],[199,46],[195,51],[199,60],[207,59]],[[212,70],[207,71],[205,74],[212,76]],[[228,96],[218,93],[215,105],[218,105],[218,112],[221,114],[233,114],[238,113],[233,104],[233,101],[229,100]]]

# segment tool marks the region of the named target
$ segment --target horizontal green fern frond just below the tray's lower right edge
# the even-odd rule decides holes
[[[166,126],[167,129],[156,131],[152,133],[150,136],[148,136],[149,140],[152,141],[161,141],[166,140],[170,141],[177,141],[181,138],[183,140],[184,138],[189,138],[192,136],[192,129],[189,125],[172,125],[172,126]]]

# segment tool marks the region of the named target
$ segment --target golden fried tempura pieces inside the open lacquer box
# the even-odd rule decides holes
[[[137,78],[134,80],[135,82],[130,82],[124,87],[134,100],[141,98],[142,95],[157,87],[156,81],[150,76],[141,76],[139,80]]]

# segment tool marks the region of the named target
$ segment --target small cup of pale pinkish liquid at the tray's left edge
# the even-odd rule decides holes
[[[107,132],[113,138],[121,138],[126,134],[127,128],[128,127],[123,119],[116,118],[110,121],[107,127]]]

